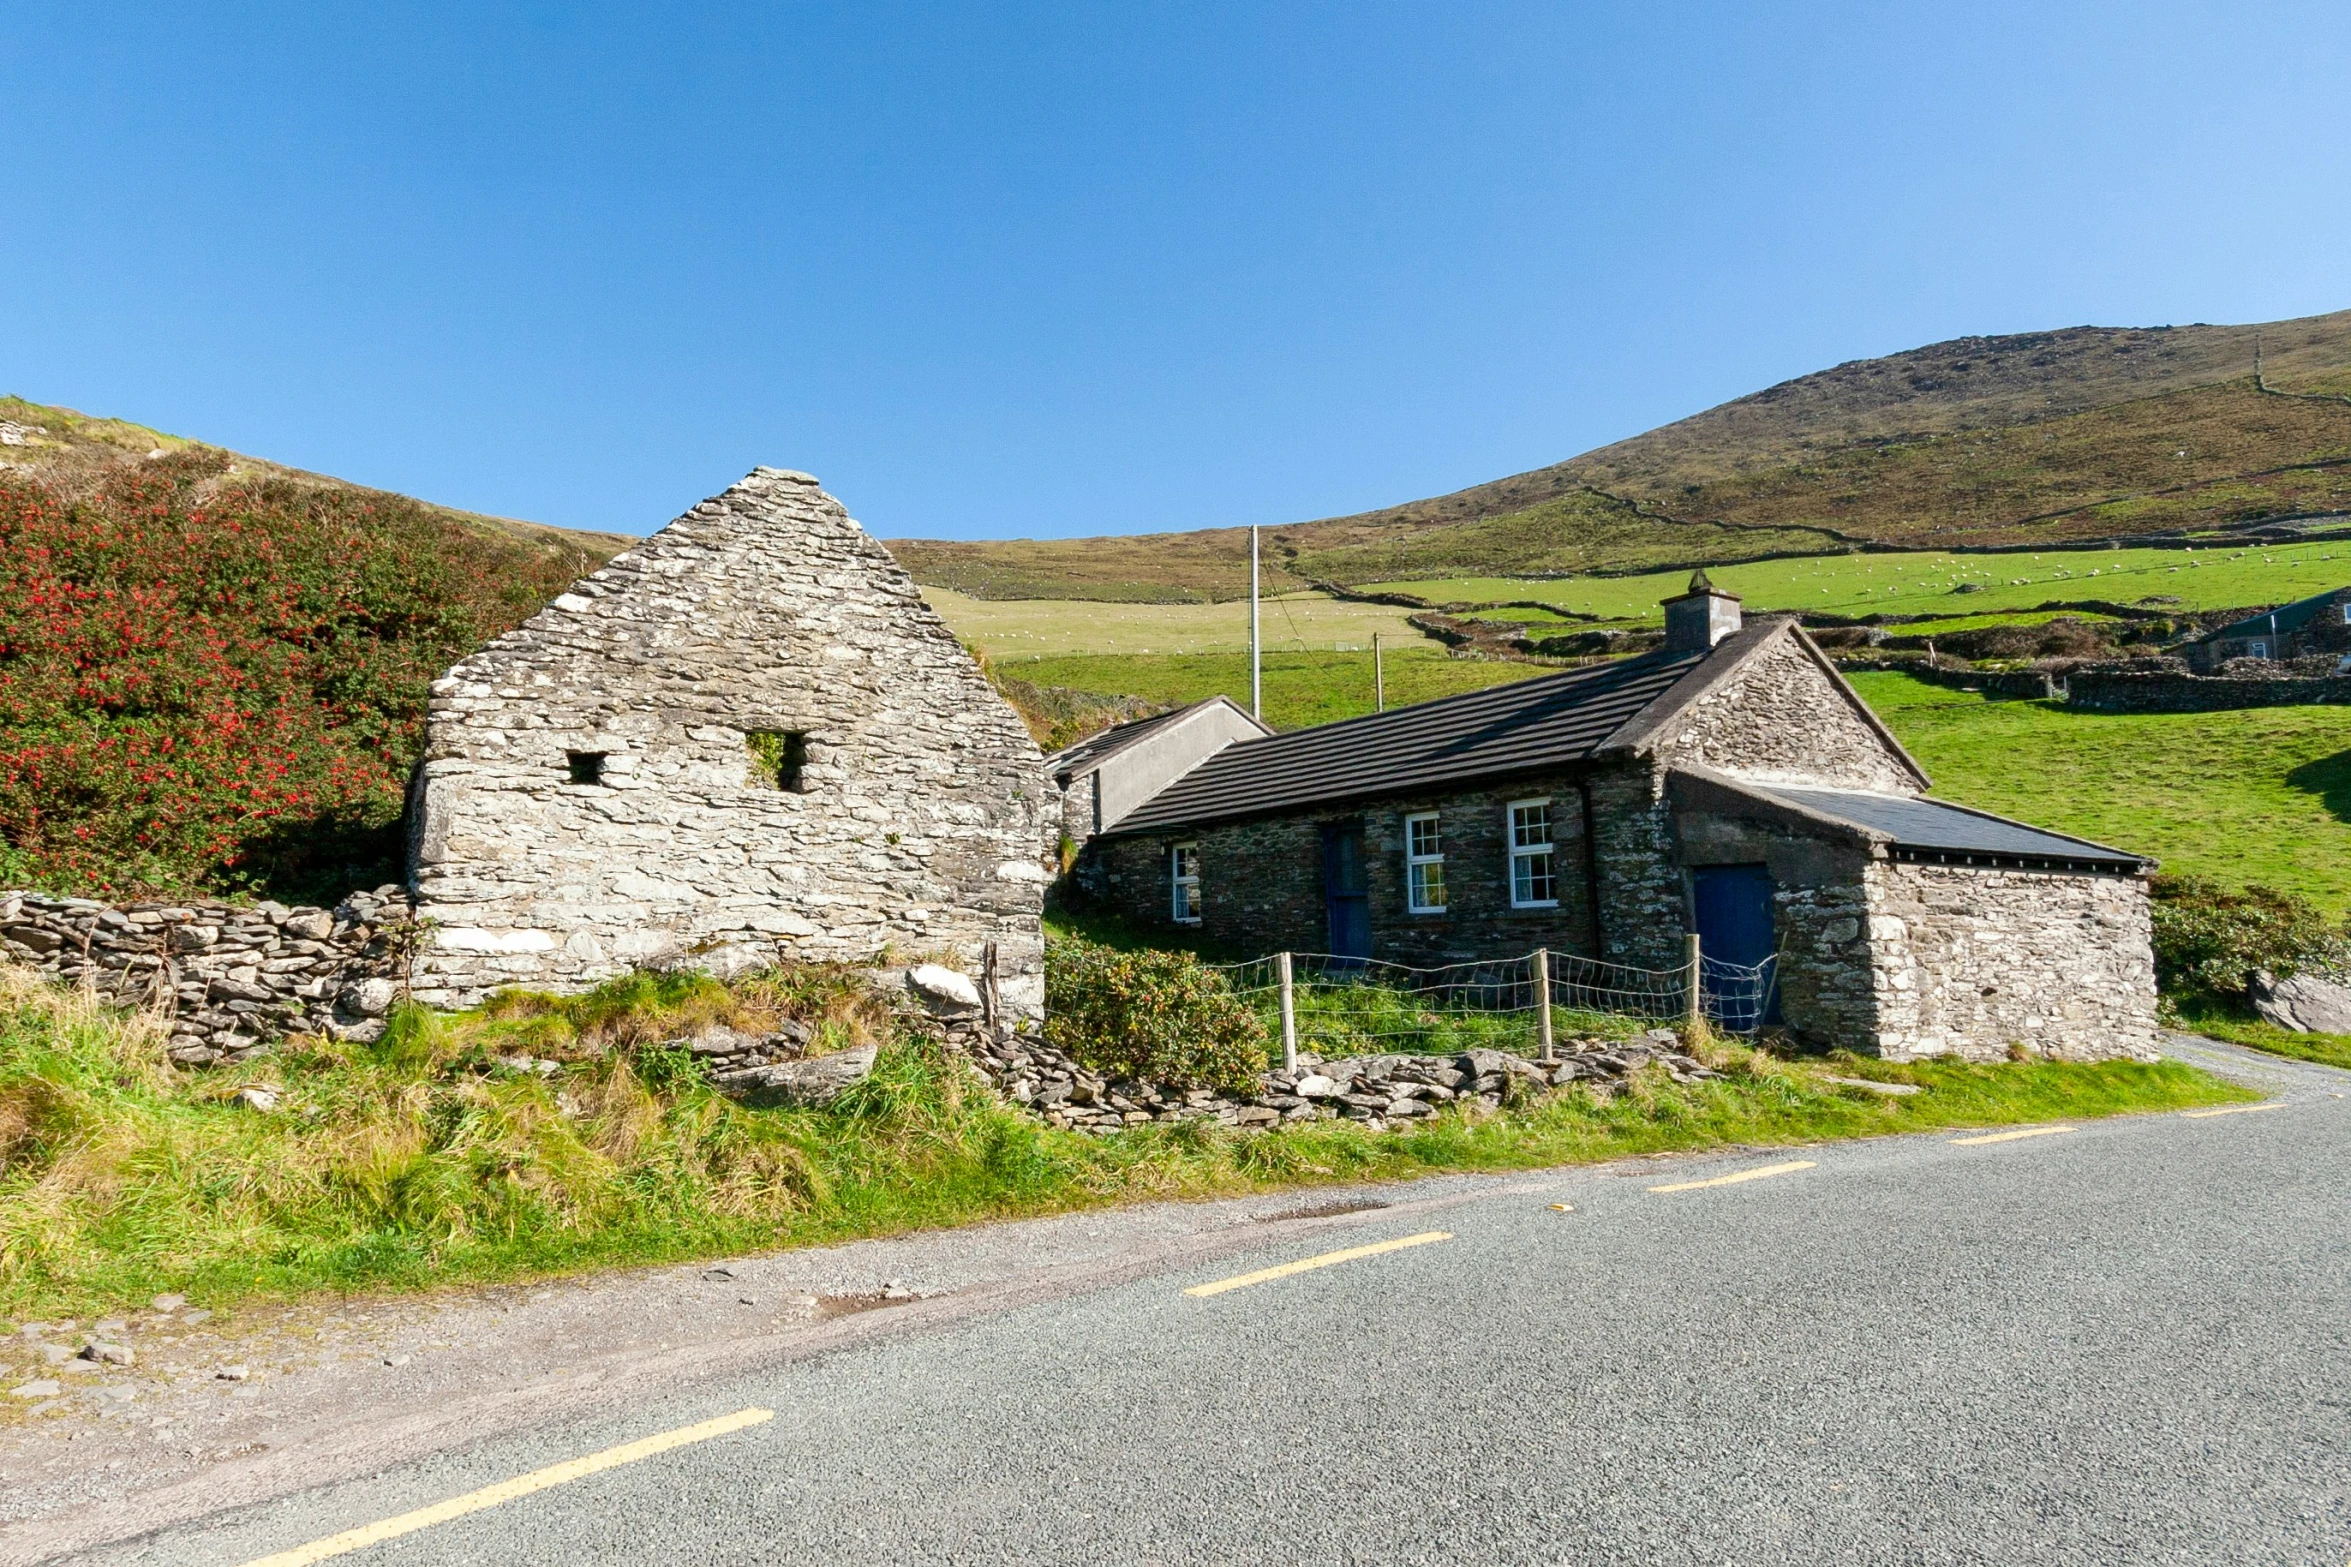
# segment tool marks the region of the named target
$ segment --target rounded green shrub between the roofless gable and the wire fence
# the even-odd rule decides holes
[[[1190,951],[1114,951],[1053,942],[1044,1036],[1114,1078],[1253,1090],[1265,1024]]]

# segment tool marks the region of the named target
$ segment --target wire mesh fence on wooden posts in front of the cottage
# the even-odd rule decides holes
[[[1218,973],[1284,1041],[1286,1060],[1314,1052],[1545,1055],[1575,1036],[1615,1038],[1704,1017],[1726,1034],[1773,1020],[1777,959],[1721,963],[1690,944],[1674,968],[1634,968],[1538,949],[1516,959],[1415,968],[1326,951],[1277,951]],[[1693,994],[1695,987],[1695,994]],[[1545,1010],[1540,998],[1549,994]]]

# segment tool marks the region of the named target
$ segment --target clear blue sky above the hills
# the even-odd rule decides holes
[[[642,533],[1295,522],[2351,305],[2342,5],[21,7],[0,390]]]

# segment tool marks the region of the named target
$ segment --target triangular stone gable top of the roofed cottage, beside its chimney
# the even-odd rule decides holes
[[[1683,707],[1657,738],[1657,761],[1888,794],[1925,787],[1794,630]]]

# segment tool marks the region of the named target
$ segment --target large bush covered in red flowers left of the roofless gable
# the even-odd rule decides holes
[[[186,451],[0,472],[0,883],[331,897],[397,879],[428,684],[585,561]]]

